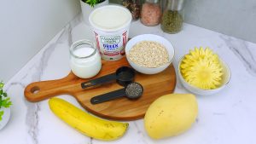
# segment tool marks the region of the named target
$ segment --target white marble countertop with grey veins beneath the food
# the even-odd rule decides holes
[[[68,49],[76,40],[92,38],[90,27],[82,22],[81,15],[67,24],[45,47],[9,80],[5,89],[11,96],[11,118],[0,130],[1,144],[92,144],[92,143],[175,143],[175,144],[253,144],[256,143],[256,44],[212,32],[201,27],[184,24],[183,31],[166,34],[160,26],[143,26],[139,20],[133,21],[130,37],[143,33],[153,33],[166,37],[174,46],[177,60],[196,47],[210,47],[230,66],[230,84],[216,95],[197,95],[199,115],[190,130],[163,140],[148,137],[143,119],[129,121],[130,128],[117,141],[97,141],[67,124],[49,110],[48,101],[31,103],[24,98],[27,84],[35,81],[65,77],[69,72]],[[177,79],[175,93],[188,93]],[[59,97],[79,103],[70,95]],[[80,107],[82,108],[82,107]]]

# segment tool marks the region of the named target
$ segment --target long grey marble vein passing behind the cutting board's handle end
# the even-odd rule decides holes
[[[29,76],[32,77],[32,80],[30,82],[27,82],[27,84],[41,81],[42,76],[44,75],[44,69],[48,66],[48,60],[50,55],[53,54],[55,51],[55,47],[58,43],[64,43],[67,42],[67,39],[70,39],[70,32],[71,27],[67,25],[64,29],[64,31],[61,33],[60,37],[57,38],[57,41],[55,43],[49,44],[49,47],[44,50],[43,55],[41,56],[40,61],[38,63],[35,63],[30,69],[31,71],[26,73],[26,75],[20,79],[20,82],[26,81],[24,79],[28,78]],[[35,70],[33,70],[35,69]],[[31,73],[32,72],[32,73]],[[22,80],[23,79],[23,80]],[[23,84],[20,82],[14,82],[10,84],[10,87],[13,85],[20,85],[22,88],[25,89],[27,84]],[[9,88],[10,88],[9,87]],[[26,125],[27,125],[27,132],[28,135],[30,135],[31,141],[33,144],[38,144],[38,123],[39,123],[39,115],[38,112],[40,111],[40,103],[32,103],[29,101],[26,101],[23,99],[26,104]]]

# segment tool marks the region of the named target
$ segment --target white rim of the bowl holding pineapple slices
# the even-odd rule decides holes
[[[186,54],[186,55],[187,55],[187,54]],[[183,80],[186,84],[188,84],[190,87],[192,87],[193,89],[203,90],[203,91],[212,91],[212,90],[222,89],[222,88],[224,88],[224,86],[227,86],[227,85],[230,83],[230,79],[231,79],[230,66],[229,66],[224,60],[222,60],[222,59],[220,58],[220,56],[218,55],[218,59],[221,60],[221,62],[224,64],[224,66],[226,66],[226,68],[227,68],[227,70],[228,70],[228,72],[229,72],[230,77],[228,78],[227,82],[224,83],[224,84],[222,84],[222,85],[221,85],[220,87],[218,87],[217,89],[201,89],[201,88],[195,87],[194,85],[189,84],[189,83],[183,78],[183,75],[182,75],[181,72],[180,72],[180,65],[181,65],[181,62],[182,62],[182,60],[183,60],[184,57],[185,57],[185,55],[183,55],[183,56],[182,56],[181,58],[179,58],[179,60],[178,60],[177,74],[178,74],[179,78],[182,78],[182,80]]]

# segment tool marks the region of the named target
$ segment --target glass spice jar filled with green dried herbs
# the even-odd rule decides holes
[[[167,0],[164,10],[161,29],[167,33],[177,33],[183,28],[184,20],[184,1],[185,0]]]

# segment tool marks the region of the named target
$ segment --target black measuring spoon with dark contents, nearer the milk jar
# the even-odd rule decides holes
[[[122,86],[126,86],[127,84],[133,82],[134,77],[135,72],[131,67],[121,66],[114,73],[82,83],[81,87],[85,89],[97,84],[105,84],[113,80],[116,80],[116,82]]]

